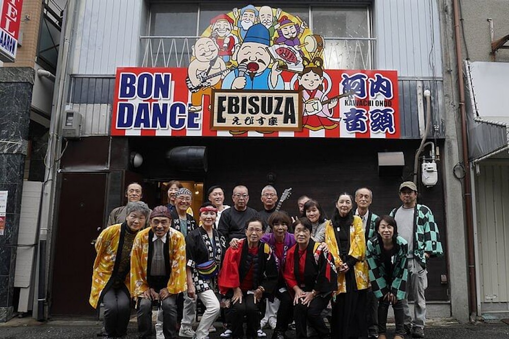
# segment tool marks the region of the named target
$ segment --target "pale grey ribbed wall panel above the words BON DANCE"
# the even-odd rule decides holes
[[[117,67],[137,66],[143,6],[143,0],[80,2],[70,73],[115,74]]]

